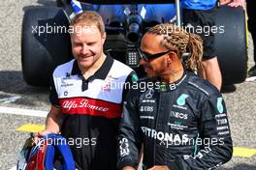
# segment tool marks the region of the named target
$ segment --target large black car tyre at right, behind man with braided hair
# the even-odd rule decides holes
[[[247,37],[245,14],[242,8],[221,6],[216,26],[224,26],[224,33],[215,35],[216,54],[223,85],[241,83],[247,74]]]

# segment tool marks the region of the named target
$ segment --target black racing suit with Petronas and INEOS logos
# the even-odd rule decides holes
[[[144,169],[214,169],[232,157],[226,106],[213,85],[191,72],[173,84],[138,83],[146,88],[133,88],[124,102],[118,169],[138,165],[142,144]]]

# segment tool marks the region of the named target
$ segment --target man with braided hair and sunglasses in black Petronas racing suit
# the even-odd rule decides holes
[[[146,89],[133,88],[124,100],[118,169],[135,170],[142,146],[148,170],[214,169],[227,162],[233,150],[225,102],[193,72],[201,67],[201,38],[158,24],[144,34],[140,52],[148,78],[138,83]]]

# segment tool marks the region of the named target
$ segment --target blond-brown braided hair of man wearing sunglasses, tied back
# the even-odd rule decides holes
[[[181,27],[171,23],[161,23],[151,27],[147,34],[163,36],[161,45],[167,49],[176,47],[178,56],[183,60],[185,68],[189,71],[202,70],[203,41],[200,36],[188,33]],[[182,54],[189,52],[187,58]]]

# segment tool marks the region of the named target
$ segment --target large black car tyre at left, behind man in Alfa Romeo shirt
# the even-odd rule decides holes
[[[61,8],[37,7],[25,12],[21,34],[24,80],[48,86],[52,71],[71,58],[69,19]]]

